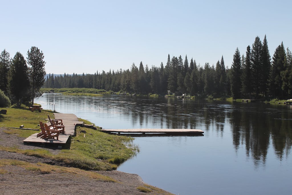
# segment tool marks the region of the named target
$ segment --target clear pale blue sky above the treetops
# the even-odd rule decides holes
[[[230,67],[267,34],[271,56],[292,47],[291,1],[2,1],[0,50],[44,52],[46,72],[95,73],[167,55]]]

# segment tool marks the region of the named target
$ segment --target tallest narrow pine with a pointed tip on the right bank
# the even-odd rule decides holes
[[[270,51],[268,48],[268,42],[267,42],[267,37],[265,35],[265,38],[263,40],[263,48],[262,48],[262,75],[263,75],[263,81],[262,81],[262,89],[261,91],[264,93],[265,96],[267,96],[267,91],[268,91],[268,80],[269,80],[269,75],[270,75],[270,68],[271,68],[271,56],[270,56]]]

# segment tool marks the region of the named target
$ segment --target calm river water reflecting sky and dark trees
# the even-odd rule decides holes
[[[135,137],[140,153],[118,168],[174,194],[291,194],[292,106],[61,94],[35,102],[104,129],[203,130],[204,136]]]

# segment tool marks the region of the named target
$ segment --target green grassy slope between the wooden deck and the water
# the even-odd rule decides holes
[[[80,133],[85,130],[86,134]],[[131,158],[138,148],[133,138],[111,135],[84,127],[77,128],[77,136],[71,141],[70,150],[62,150],[58,158],[84,169],[111,170]],[[125,144],[127,144],[127,147]]]

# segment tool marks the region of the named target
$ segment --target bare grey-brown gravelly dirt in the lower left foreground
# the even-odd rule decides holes
[[[16,146],[20,149],[40,149],[40,145],[24,145],[23,139],[16,135],[10,135],[3,132],[0,127],[0,145]],[[44,147],[44,146],[43,146]],[[60,150],[46,148],[52,153],[58,153]],[[27,161],[29,163],[47,163],[51,165],[60,165],[62,163],[34,156],[26,156],[19,153],[0,151],[1,159],[15,159]],[[99,174],[112,177],[118,182],[103,182],[91,179],[86,176],[72,173],[49,173],[40,174],[39,172],[25,170],[19,166],[1,167],[7,171],[6,174],[0,174],[0,194],[157,194],[157,191],[150,193],[141,192],[138,186],[145,184],[141,177],[136,174],[129,174],[120,171],[96,171]],[[170,194],[161,191],[159,194]]]

